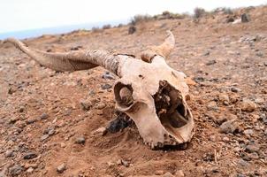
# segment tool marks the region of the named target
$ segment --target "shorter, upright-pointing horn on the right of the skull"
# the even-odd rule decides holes
[[[164,42],[158,46],[151,46],[148,50],[145,50],[141,54],[141,59],[145,62],[151,62],[152,58],[156,55],[160,55],[164,58],[168,58],[175,45],[174,35],[170,30],[166,31],[167,37]]]

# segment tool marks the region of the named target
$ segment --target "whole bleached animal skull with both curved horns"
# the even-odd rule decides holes
[[[163,44],[145,50],[141,59],[105,50],[48,53],[29,49],[16,39],[6,42],[57,71],[85,70],[100,65],[117,74],[116,107],[133,119],[143,141],[151,148],[189,142],[194,135],[194,119],[186,102],[186,75],[165,62],[174,47],[170,31]]]

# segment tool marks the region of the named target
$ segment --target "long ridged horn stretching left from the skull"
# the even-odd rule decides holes
[[[11,42],[19,50],[36,60],[40,65],[56,71],[78,71],[103,66],[118,75],[119,55],[111,54],[106,50],[71,51],[65,53],[50,53],[34,50],[17,39],[9,38],[4,42]]]

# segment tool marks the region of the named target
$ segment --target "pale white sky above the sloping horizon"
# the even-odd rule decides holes
[[[136,14],[207,11],[267,4],[267,0],[0,0],[0,34],[95,22],[126,21]]]

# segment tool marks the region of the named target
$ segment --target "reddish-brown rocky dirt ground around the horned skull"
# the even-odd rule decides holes
[[[133,35],[124,26],[24,41],[40,50],[139,56],[171,29],[168,64],[195,81],[188,102],[195,136],[186,150],[150,150],[134,126],[95,134],[115,118],[115,80],[103,78],[103,68],[56,73],[0,44],[0,176],[267,176],[267,7],[241,12],[248,23],[226,23],[218,12],[140,23]]]

